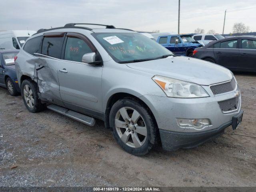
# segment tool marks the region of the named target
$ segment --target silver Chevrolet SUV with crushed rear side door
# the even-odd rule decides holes
[[[230,70],[176,56],[132,30],[85,25],[38,30],[20,50],[17,77],[30,112],[47,107],[90,126],[104,120],[138,156],[158,141],[165,150],[192,148],[240,124]]]

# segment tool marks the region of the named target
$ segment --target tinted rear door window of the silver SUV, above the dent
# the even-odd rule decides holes
[[[44,37],[42,54],[60,59],[63,40],[63,37]]]

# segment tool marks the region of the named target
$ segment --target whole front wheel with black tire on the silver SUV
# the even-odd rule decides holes
[[[142,156],[157,143],[157,126],[148,108],[133,99],[118,100],[110,110],[116,142],[128,153]]]

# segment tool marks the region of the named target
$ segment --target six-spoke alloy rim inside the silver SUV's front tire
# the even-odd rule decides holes
[[[139,148],[146,141],[146,124],[140,113],[131,107],[123,107],[118,110],[115,127],[122,142],[132,148]]]

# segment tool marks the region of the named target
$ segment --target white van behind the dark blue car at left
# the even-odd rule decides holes
[[[0,49],[20,49],[26,39],[36,31],[32,30],[10,30],[0,32]]]

